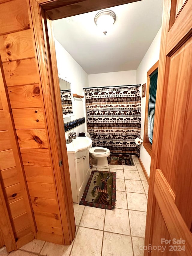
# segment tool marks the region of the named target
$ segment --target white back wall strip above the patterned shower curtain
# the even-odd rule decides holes
[[[136,84],[136,70],[88,75],[89,87]]]

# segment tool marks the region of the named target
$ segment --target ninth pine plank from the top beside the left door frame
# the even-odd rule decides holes
[[[53,184],[27,182],[29,194],[31,197],[43,197],[49,199],[56,199],[55,188]]]

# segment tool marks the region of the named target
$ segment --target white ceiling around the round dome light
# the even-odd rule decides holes
[[[163,0],[108,8],[116,22],[106,36],[94,23],[98,11],[53,21],[54,36],[87,72],[135,70],[161,27]]]

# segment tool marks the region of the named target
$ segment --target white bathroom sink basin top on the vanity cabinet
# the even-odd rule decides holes
[[[66,144],[67,153],[76,153],[77,151],[81,151],[90,147],[91,144],[92,140],[88,137],[76,137],[73,142]]]

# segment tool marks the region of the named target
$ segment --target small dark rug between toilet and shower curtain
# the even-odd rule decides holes
[[[110,155],[107,159],[109,164],[135,165],[132,155]]]

